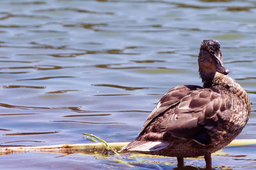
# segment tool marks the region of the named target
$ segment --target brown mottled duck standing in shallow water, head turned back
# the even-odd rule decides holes
[[[211,154],[227,146],[250,117],[246,91],[223,64],[220,42],[205,39],[198,55],[203,87],[179,85],[168,90],[148,115],[137,138],[120,152],[140,152],[177,157],[204,156],[212,168]]]

